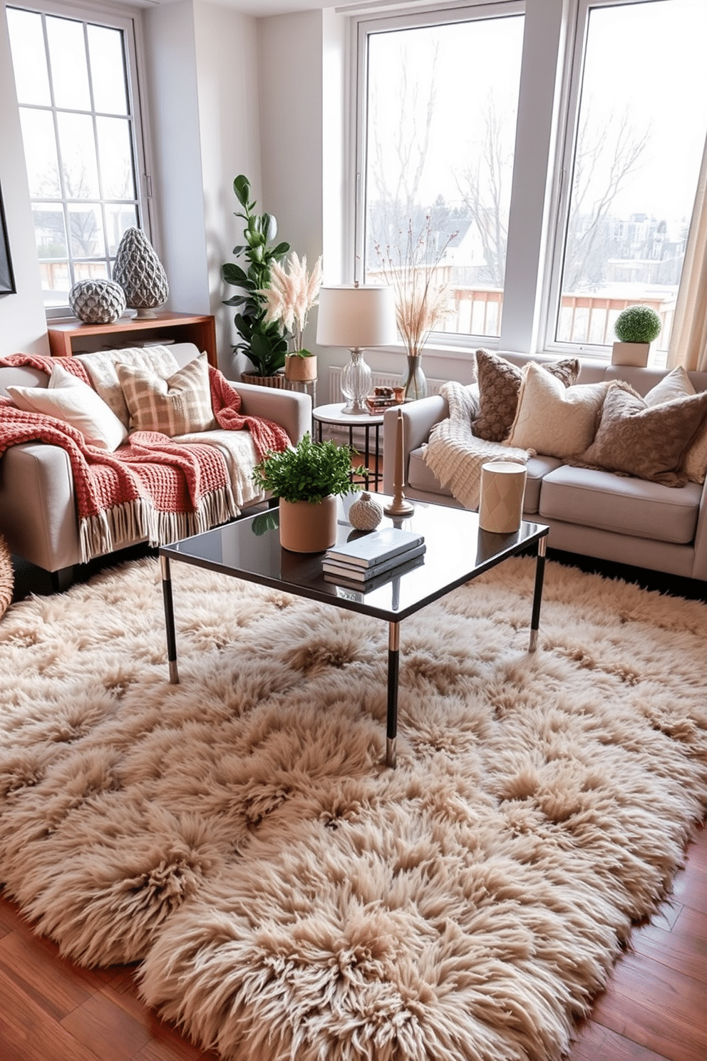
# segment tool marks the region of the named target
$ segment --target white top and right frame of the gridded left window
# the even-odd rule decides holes
[[[142,86],[146,85],[144,49],[142,40],[142,16],[139,10],[116,3],[82,3],[81,0],[12,0],[7,6],[45,15],[74,18],[82,22],[92,22],[109,29],[121,30],[124,35],[127,57],[127,93],[132,128],[132,152],[138,208],[138,225],[155,245],[153,236],[155,205],[152,189],[152,151],[147,124],[146,100]],[[66,201],[61,201],[66,206]],[[71,317],[69,305],[45,308],[47,319]]]

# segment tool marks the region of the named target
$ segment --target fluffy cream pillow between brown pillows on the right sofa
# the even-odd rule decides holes
[[[608,383],[566,387],[535,362],[524,370],[509,446],[551,457],[583,453],[595,436]]]

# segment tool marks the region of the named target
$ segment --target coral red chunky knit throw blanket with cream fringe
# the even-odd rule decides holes
[[[88,372],[73,358],[61,364],[85,383]],[[0,365],[30,366],[48,375],[52,359],[14,353]],[[289,446],[286,432],[260,417],[243,416],[241,396],[217,369],[209,368],[214,417],[228,431],[247,429],[262,459]],[[201,534],[238,515],[224,457],[213,446],[179,445],[167,435],[134,432],[113,453],[86,445],[75,428],[40,413],[23,413],[0,398],[0,455],[20,442],[41,441],[66,451],[73,474],[82,560],[146,539],[161,545]]]

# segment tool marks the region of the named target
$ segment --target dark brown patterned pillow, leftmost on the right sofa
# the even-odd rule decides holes
[[[577,358],[568,358],[543,364],[543,369],[569,386],[579,376],[580,363]],[[477,350],[476,378],[479,384],[479,413],[472,430],[477,438],[502,442],[508,437],[518,406],[523,369],[497,353]]]

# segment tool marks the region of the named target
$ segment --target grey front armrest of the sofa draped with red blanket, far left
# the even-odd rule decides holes
[[[45,571],[81,562],[73,476],[58,446],[22,442],[0,459],[0,534]]]

